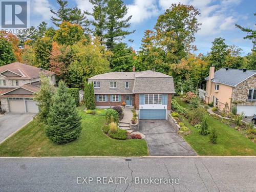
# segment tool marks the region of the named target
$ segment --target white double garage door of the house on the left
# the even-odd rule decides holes
[[[9,110],[14,113],[37,113],[38,106],[30,98],[9,98]]]

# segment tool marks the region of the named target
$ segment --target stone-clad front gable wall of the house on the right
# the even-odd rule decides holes
[[[256,101],[247,101],[249,89],[256,89],[256,75],[241,82],[237,87],[233,89],[233,101],[238,102],[239,105],[256,106]]]

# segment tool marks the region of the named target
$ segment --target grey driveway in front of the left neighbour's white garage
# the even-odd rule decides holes
[[[33,119],[34,113],[8,113],[0,115],[0,143]]]

